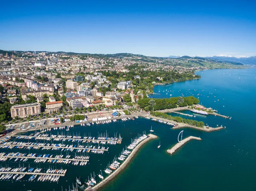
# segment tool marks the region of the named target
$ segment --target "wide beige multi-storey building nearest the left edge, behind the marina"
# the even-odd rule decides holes
[[[41,113],[40,103],[29,103],[29,104],[20,104],[13,105],[11,107],[11,116],[12,118],[18,117],[28,117],[29,115],[38,115]]]

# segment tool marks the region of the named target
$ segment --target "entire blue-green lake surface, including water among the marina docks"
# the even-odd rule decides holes
[[[91,133],[97,137],[98,132],[109,135],[121,133],[123,142],[121,145],[110,146],[109,153],[104,155],[90,154],[90,164],[85,167],[63,165],[67,168],[67,175],[61,177],[57,183],[49,182],[12,182],[0,181],[1,188],[5,190],[20,191],[61,191],[72,186],[76,176],[86,180],[90,173],[99,173],[104,169],[113,157],[122,151],[125,145],[131,142],[131,138],[146,130],[149,133],[152,125],[154,134],[159,139],[152,140],[144,145],[130,162],[128,167],[110,182],[102,191],[131,191],[131,190],[163,190],[163,191],[188,191],[188,190],[233,190],[254,191],[254,171],[256,169],[256,123],[254,116],[256,111],[256,68],[247,70],[209,70],[200,71],[199,80],[160,85],[154,87],[154,97],[189,96],[194,94],[199,97],[202,104],[218,110],[218,113],[232,117],[224,119],[215,116],[187,117],[189,119],[202,120],[204,123],[215,127],[226,126],[226,129],[211,133],[184,128],[183,137],[197,136],[201,141],[192,140],[173,155],[166,154],[166,149],[177,143],[179,130],[172,130],[171,126],[153,122],[146,119],[137,119],[111,123],[106,125],[83,128],[78,126],[70,130],[70,133]],[[239,78],[240,77],[240,78]],[[167,94],[166,94],[167,90]],[[164,92],[163,92],[164,91]],[[197,94],[199,94],[197,96]],[[224,107],[223,107],[224,106]],[[190,114],[190,111],[184,111]],[[192,113],[191,113],[192,114]],[[195,115],[195,114],[194,114]],[[186,116],[182,116],[186,117]],[[60,132],[60,131],[59,131]],[[64,132],[64,131],[62,131]],[[55,131],[54,133],[57,133]],[[157,145],[161,140],[161,147]],[[7,151],[7,150],[0,150]],[[27,150],[15,150],[29,152]],[[31,151],[32,152],[32,151]],[[49,151],[38,153],[49,153]],[[59,151],[54,151],[60,154]],[[7,162],[2,165],[15,166],[18,163]],[[31,162],[24,165],[33,166]],[[47,168],[49,164],[40,164]],[[34,165],[36,166],[36,165]],[[60,168],[61,165],[56,165]],[[26,177],[26,180],[29,177]],[[24,178],[25,180],[25,178]],[[18,189],[17,189],[18,188]]]

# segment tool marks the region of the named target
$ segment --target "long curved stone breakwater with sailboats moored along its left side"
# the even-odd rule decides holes
[[[141,143],[139,143],[136,148],[134,148],[133,151],[131,151],[131,154],[127,157],[127,159],[120,165],[119,168],[117,168],[111,175],[109,175],[107,178],[105,178],[104,180],[102,180],[102,182],[99,182],[99,184],[95,185],[94,187],[88,187],[86,188],[84,191],[96,191],[99,190],[99,188],[102,188],[102,186],[104,186],[105,184],[107,184],[108,182],[110,182],[111,180],[113,180],[113,178],[119,174],[127,165],[128,163],[131,161],[131,159],[134,157],[134,155],[137,153],[137,151],[139,150],[139,148],[144,145],[145,143],[147,143],[149,140],[152,139],[156,139],[157,136],[153,135],[153,134],[148,134],[148,138],[146,138],[145,140],[143,140]]]

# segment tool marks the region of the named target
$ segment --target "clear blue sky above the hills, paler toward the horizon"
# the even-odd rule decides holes
[[[256,55],[253,0],[2,1],[0,49]]]

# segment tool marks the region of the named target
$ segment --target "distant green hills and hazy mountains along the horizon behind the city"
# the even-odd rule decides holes
[[[5,55],[6,52],[9,55],[14,54],[14,56],[20,57],[23,56],[28,51],[3,51],[0,50],[0,54]],[[29,51],[33,52],[33,51]],[[36,51],[36,54],[38,54],[41,51]],[[44,51],[45,52],[45,51]],[[249,58],[241,58],[237,60],[237,58],[230,58],[230,57],[189,57],[189,56],[182,56],[173,58],[172,57],[149,57],[144,56],[140,54],[131,54],[131,53],[117,53],[117,54],[88,54],[88,53],[74,53],[74,52],[46,52],[46,53],[55,53],[60,54],[60,57],[62,55],[77,55],[82,60],[86,59],[87,56],[95,57],[95,58],[116,58],[116,59],[122,59],[127,58],[130,61],[134,61],[135,63],[161,63],[165,65],[171,65],[171,66],[183,66],[186,68],[193,68],[193,69],[215,69],[215,68],[246,68],[247,66],[244,66],[244,64],[253,63],[253,61],[256,64],[256,57],[250,57]],[[26,56],[25,56],[26,57]],[[37,57],[31,56],[31,57]],[[226,60],[225,60],[226,59]],[[229,59],[229,60],[228,60]],[[242,62],[238,62],[242,61]],[[244,64],[243,64],[244,63]]]

